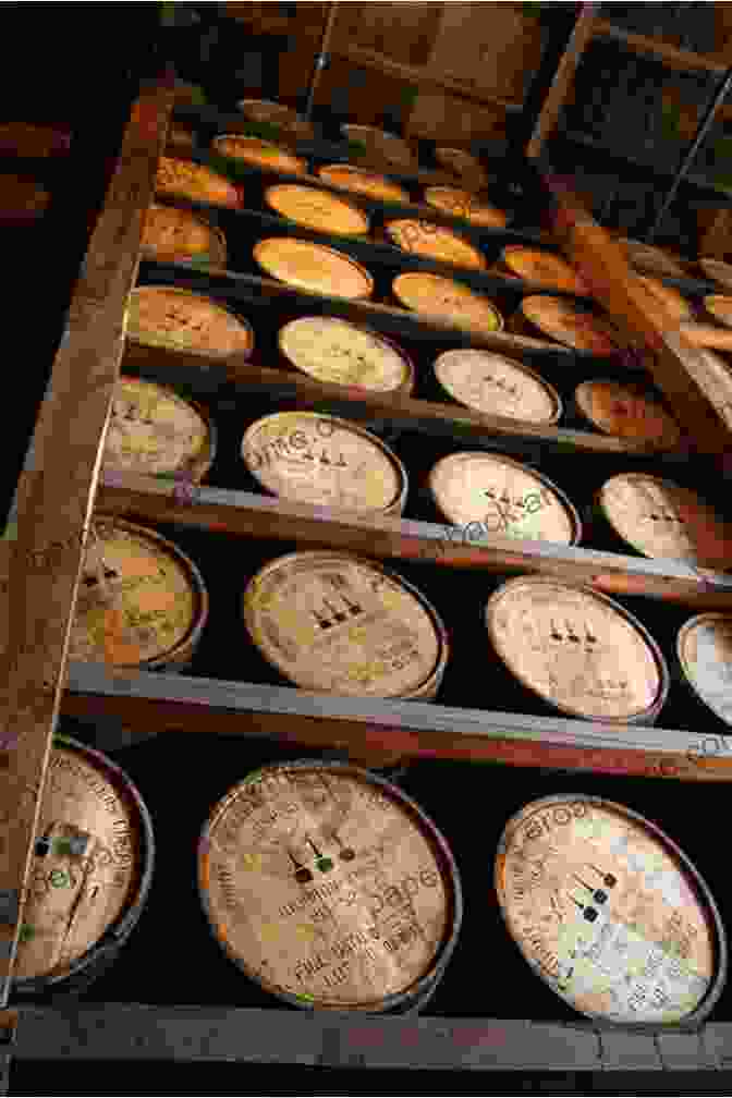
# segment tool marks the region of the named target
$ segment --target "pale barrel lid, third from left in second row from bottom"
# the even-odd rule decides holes
[[[493,647],[511,674],[564,713],[624,721],[650,714],[665,695],[661,652],[604,595],[519,576],[491,596],[485,616]]]

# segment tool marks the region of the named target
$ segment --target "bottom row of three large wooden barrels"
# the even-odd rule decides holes
[[[267,764],[202,824],[190,874],[211,931],[273,1000],[404,1013],[431,999],[460,941],[465,896],[460,858],[403,789],[350,764]],[[126,773],[57,737],[11,1001],[78,995],[99,978],[145,919],[156,853]],[[573,1010],[688,1023],[719,1000],[727,942],[714,898],[675,842],[632,809],[582,794],[525,799],[485,851],[485,877],[470,897],[483,916],[471,915],[492,920],[497,907],[517,961]],[[499,937],[492,944],[500,949]],[[195,952],[204,943],[188,941],[189,959]]]

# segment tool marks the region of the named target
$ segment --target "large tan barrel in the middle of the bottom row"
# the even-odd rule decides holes
[[[227,956],[305,1010],[397,1013],[431,996],[462,922],[450,849],[401,789],[356,766],[266,766],[215,806],[199,887]]]

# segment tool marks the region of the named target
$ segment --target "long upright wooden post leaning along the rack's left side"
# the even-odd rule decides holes
[[[3,1004],[60,704],[98,455],[171,102],[169,81],[143,91],[133,107],[37,417],[32,463],[19,481],[16,528],[0,542],[7,630],[0,651],[0,769],[4,771],[0,894],[18,901],[7,905],[9,915],[0,925]]]

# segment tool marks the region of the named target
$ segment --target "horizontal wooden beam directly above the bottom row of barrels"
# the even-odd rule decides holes
[[[589,720],[458,709],[426,702],[342,698],[294,687],[182,675],[121,679],[98,664],[69,666],[64,713],[211,737],[268,738],[314,748],[542,766],[598,774],[732,781],[723,736]],[[204,718],[204,719],[202,719]]]

